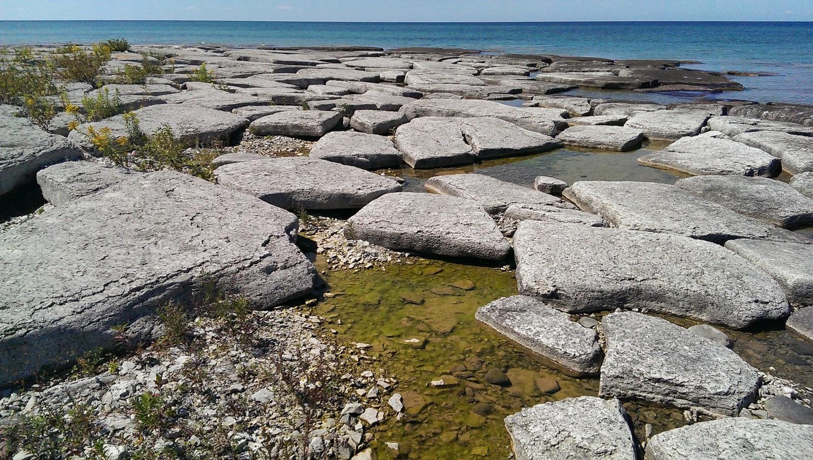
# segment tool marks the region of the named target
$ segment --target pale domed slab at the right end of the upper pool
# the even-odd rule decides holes
[[[711,136],[683,137],[663,150],[638,158],[638,163],[694,176],[773,177],[781,169],[779,160],[762,150]]]

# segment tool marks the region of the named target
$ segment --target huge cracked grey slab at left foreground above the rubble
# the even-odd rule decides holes
[[[267,308],[311,291],[296,216],[174,171],[134,175],[15,225],[0,243],[0,386],[159,331],[211,292]],[[194,305],[194,303],[193,303]]]

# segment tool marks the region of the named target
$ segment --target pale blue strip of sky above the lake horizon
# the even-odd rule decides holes
[[[0,0],[0,20],[813,21],[813,0]]]

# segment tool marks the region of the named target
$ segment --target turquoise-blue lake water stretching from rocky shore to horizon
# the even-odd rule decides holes
[[[726,97],[813,103],[813,23],[302,23],[240,21],[0,21],[0,45],[131,43],[241,46],[454,46],[614,59],[691,59],[687,67],[773,72],[733,77]]]

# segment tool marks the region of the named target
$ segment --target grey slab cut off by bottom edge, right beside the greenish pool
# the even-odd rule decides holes
[[[617,399],[571,397],[505,419],[517,460],[635,460],[633,433]]]

